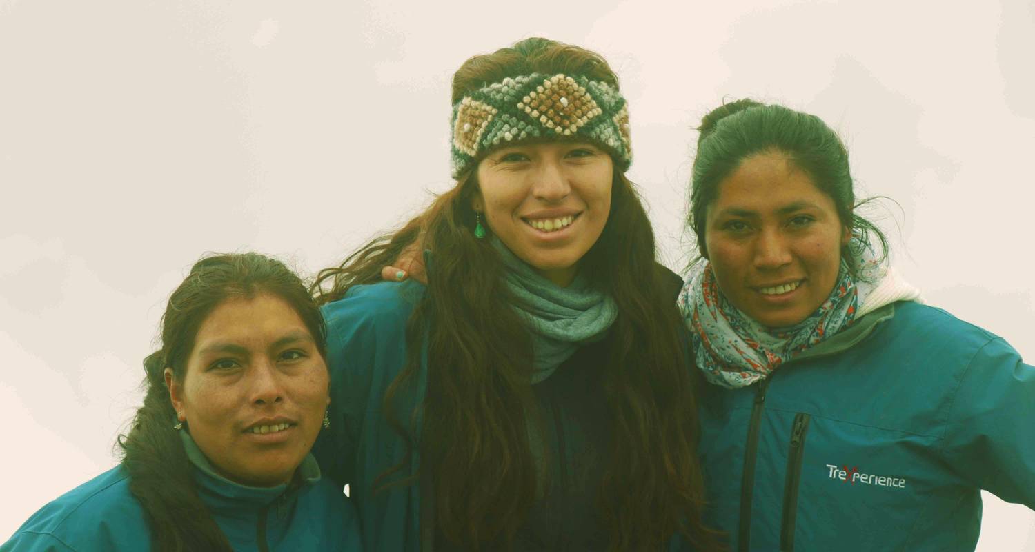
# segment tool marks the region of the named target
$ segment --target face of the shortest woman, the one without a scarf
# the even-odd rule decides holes
[[[327,367],[276,295],[229,298],[202,322],[186,375],[165,370],[180,422],[216,470],[243,485],[287,485],[320,433]]]

